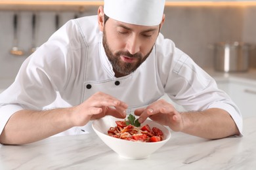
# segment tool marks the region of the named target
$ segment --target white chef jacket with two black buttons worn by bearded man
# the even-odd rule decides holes
[[[167,93],[186,110],[226,110],[242,132],[242,115],[230,97],[161,33],[146,61],[130,75],[116,78],[97,16],[87,16],[67,22],[24,61],[13,84],[0,95],[0,133],[18,110],[79,105],[96,92],[124,101],[131,111]],[[89,126],[62,135],[89,132]]]

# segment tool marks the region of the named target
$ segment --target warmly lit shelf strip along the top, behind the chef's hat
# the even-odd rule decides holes
[[[104,5],[103,1],[96,0],[62,0],[62,1],[47,1],[47,0],[2,0],[0,1],[0,10],[61,10],[61,11],[79,11],[84,12],[92,6]],[[256,6],[256,1],[178,1],[178,0],[167,0],[166,6],[174,7],[225,7],[225,6]]]

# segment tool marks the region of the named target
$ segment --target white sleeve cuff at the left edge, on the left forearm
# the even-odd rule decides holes
[[[23,108],[20,105],[5,105],[0,107],[0,134],[2,133],[3,128],[7,124],[12,114],[22,109]]]

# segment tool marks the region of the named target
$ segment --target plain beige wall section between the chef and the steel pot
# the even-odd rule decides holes
[[[163,33],[202,67],[213,67],[213,49],[219,41],[242,41],[240,7],[169,7]]]

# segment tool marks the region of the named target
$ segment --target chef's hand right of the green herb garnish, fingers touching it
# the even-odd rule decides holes
[[[169,126],[173,131],[181,131],[183,127],[182,115],[163,99],[155,101],[146,108],[135,110],[135,115],[140,116],[140,123],[149,117],[163,126]]]

